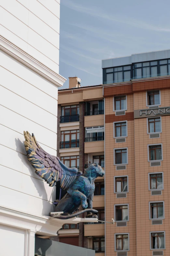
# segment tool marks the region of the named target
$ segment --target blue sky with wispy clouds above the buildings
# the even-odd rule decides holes
[[[170,48],[170,1],[61,0],[60,69],[102,83],[102,59]]]

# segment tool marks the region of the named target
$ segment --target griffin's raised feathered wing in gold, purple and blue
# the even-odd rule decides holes
[[[47,181],[50,187],[60,179],[61,188],[67,189],[76,179],[78,169],[69,168],[56,156],[45,152],[37,143],[34,134],[24,131],[24,146],[27,158],[35,169],[35,173]]]

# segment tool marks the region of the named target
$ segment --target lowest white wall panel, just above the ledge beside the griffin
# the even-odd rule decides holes
[[[39,193],[43,193],[43,196],[46,197],[46,191],[43,186]],[[47,200],[29,196],[6,187],[0,186],[0,194],[3,195],[1,196],[1,205],[10,206],[10,208],[17,209],[17,211],[24,211],[39,216],[49,216],[49,213],[55,208],[53,204]]]

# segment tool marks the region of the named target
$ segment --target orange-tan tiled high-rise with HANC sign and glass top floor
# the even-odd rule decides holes
[[[106,256],[170,255],[170,50],[102,68]]]

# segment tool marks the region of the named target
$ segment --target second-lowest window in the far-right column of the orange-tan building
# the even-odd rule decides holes
[[[149,219],[164,219],[164,203],[149,202]]]

